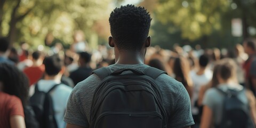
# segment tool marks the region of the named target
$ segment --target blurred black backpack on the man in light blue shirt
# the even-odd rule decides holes
[[[30,106],[33,108],[36,119],[40,127],[55,128],[58,127],[54,117],[53,102],[50,92],[60,84],[55,84],[48,92],[38,90],[38,85],[35,85],[35,93],[29,99]]]

